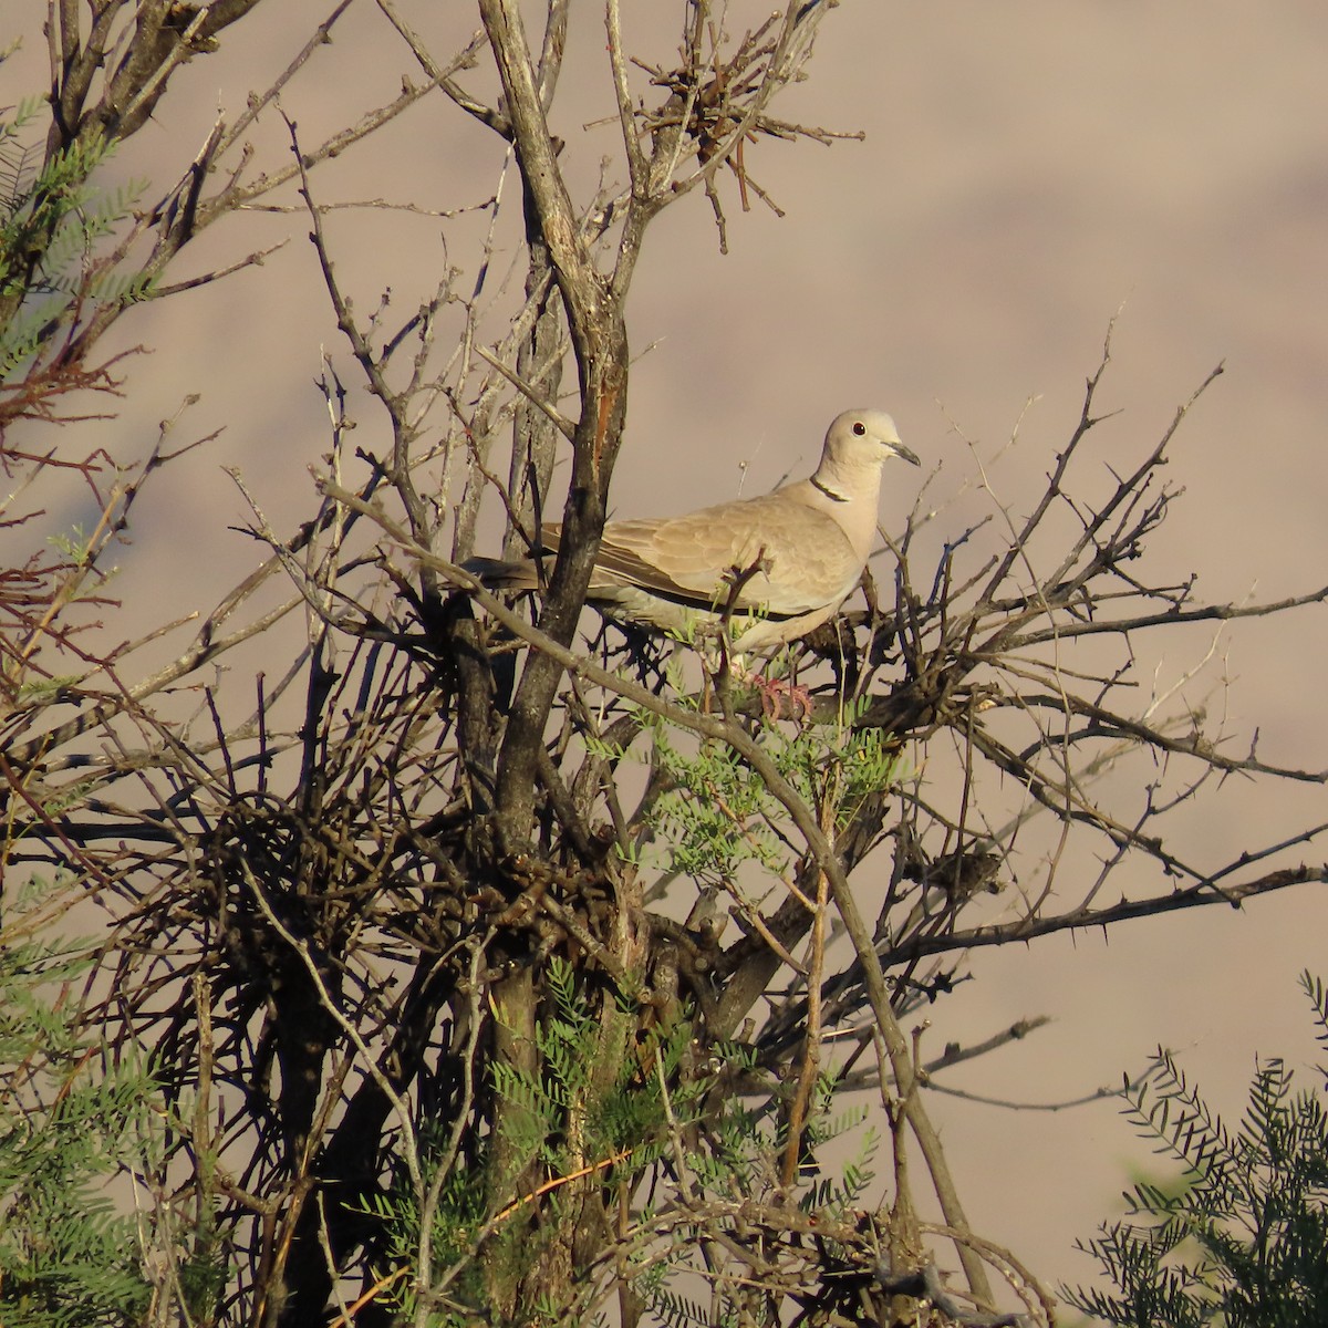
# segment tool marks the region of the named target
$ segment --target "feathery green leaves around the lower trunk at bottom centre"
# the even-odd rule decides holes
[[[497,1062],[494,1088],[503,1104],[499,1118],[507,1147],[485,1146],[477,1157],[458,1162],[446,1154],[442,1125],[421,1130],[425,1190],[436,1189],[430,1210],[429,1283],[446,1283],[446,1296],[428,1317],[430,1328],[459,1328],[474,1321],[485,1303],[485,1274],[498,1267],[517,1283],[537,1266],[542,1232],[572,1220],[574,1182],[582,1181],[631,1195],[633,1222],[647,1230],[652,1215],[676,1199],[679,1169],[696,1199],[732,1202],[737,1194],[770,1195],[778,1189],[778,1158],[786,1135],[777,1116],[780,1085],[757,1068],[754,1049],[720,1044],[697,1056],[688,1020],[656,1024],[632,1042],[627,1056],[606,1068],[603,1021],[596,999],[582,988],[576,971],[552,957],[546,973],[551,1009],[535,1031],[537,1072]],[[639,1016],[636,1009],[623,1013]],[[742,1084],[750,1092],[733,1092]],[[823,1113],[835,1105],[835,1081],[822,1076],[805,1127],[809,1147],[857,1129],[863,1110]],[[806,1211],[846,1214],[861,1202],[872,1181],[874,1131],[834,1175],[813,1178],[801,1193]],[[511,1174],[494,1186],[491,1169],[502,1157]],[[440,1167],[449,1166],[445,1175]],[[537,1182],[530,1178],[535,1177]],[[643,1185],[647,1182],[648,1185]],[[531,1190],[530,1186],[535,1185]],[[502,1194],[505,1206],[491,1198]],[[644,1202],[643,1202],[643,1197]],[[542,1220],[529,1218],[535,1206]],[[378,1276],[392,1279],[413,1270],[421,1248],[422,1204],[400,1167],[389,1191],[367,1202],[382,1231]],[[477,1258],[477,1251],[483,1250]],[[713,1324],[679,1286],[693,1286],[699,1258],[687,1226],[676,1228],[665,1248],[643,1250],[633,1279],[636,1293],[668,1324]],[[676,1279],[683,1280],[677,1284]],[[404,1316],[416,1312],[414,1278],[401,1276],[382,1299]],[[724,1301],[724,1295],[718,1296]],[[539,1317],[539,1307],[530,1307]],[[562,1321],[566,1307],[546,1307],[543,1317]],[[737,1313],[736,1301],[728,1307]]]

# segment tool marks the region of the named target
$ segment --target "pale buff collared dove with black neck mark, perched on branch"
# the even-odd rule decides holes
[[[919,465],[883,410],[846,410],[807,479],[685,517],[610,522],[587,603],[684,636],[713,635],[730,611],[744,652],[797,640],[829,622],[862,579],[890,457]],[[550,522],[540,535],[556,551],[560,526]],[[494,588],[539,584],[530,560],[477,558],[466,567]]]

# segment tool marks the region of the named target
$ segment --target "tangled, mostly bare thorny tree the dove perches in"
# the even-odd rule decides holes
[[[762,713],[722,641],[583,615],[651,223],[708,207],[728,244],[729,214],[765,201],[754,143],[843,137],[777,105],[822,21],[851,17],[813,0],[748,24],[687,0],[660,41],[659,15],[635,32],[604,0],[582,39],[616,150],[574,189],[591,149],[548,127],[567,0],[478,0],[448,45],[404,4],[367,5],[401,92],[307,141],[287,108],[343,0],[291,29],[282,74],[223,109],[175,185],[101,191],[108,154],[260,3],[52,0],[50,97],[0,138],[3,522],[23,550],[0,582],[3,935],[24,956],[5,980],[62,984],[7,1044],[7,1100],[56,1121],[76,1086],[145,1068],[146,1114],[80,1098],[137,1198],[135,1254],[98,1291],[127,1278],[117,1321],[143,1323],[571,1324],[608,1305],[624,1323],[892,1323],[920,1300],[938,1323],[1016,1301],[1011,1321],[1048,1321],[1036,1279],[969,1228],[928,1120],[928,1074],[965,1053],[928,1061],[907,1017],[943,1017],[975,946],[1324,879],[1287,857],[1316,827],[1230,862],[1170,843],[1169,814],[1226,774],[1323,776],[1227,754],[1202,716],[1141,695],[1135,660],[1328,590],[1208,606],[1151,571],[1187,408],[1104,490],[1094,430],[1122,428],[1094,414],[1104,355],[1027,513],[993,501],[936,544],[943,517],[919,505],[863,594],[789,652],[805,720]],[[365,315],[320,173],[425,98],[483,126],[507,189],[473,251]],[[131,390],[133,357],[100,347],[143,303],[259,262],[240,248],[173,279],[215,222],[278,203],[344,337],[327,457],[295,531],[236,475],[260,554],[210,611],[162,624],[171,659],[147,667],[153,637],[122,644],[98,578],[189,449],[163,429],[133,471],[84,441],[84,417]],[[501,284],[513,214],[521,278]],[[352,374],[377,412],[353,434]],[[69,485],[101,510],[77,539],[44,517]],[[519,556],[546,511],[563,538],[539,595],[469,576],[486,515]],[[259,676],[216,683],[255,640]],[[48,942],[89,928],[57,963]],[[77,1215],[50,1214],[74,1182],[52,1174],[11,1182],[0,1296],[68,1311],[86,1286],[23,1244],[72,1247]]]

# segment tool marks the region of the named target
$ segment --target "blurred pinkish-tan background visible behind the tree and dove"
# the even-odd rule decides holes
[[[629,21],[648,21],[653,3],[628,0]],[[0,101],[33,86],[24,69],[40,82],[44,8],[7,8],[31,62],[0,74]],[[574,40],[590,33],[594,61],[595,7],[574,8]],[[458,0],[402,9],[425,31],[432,21],[440,54],[473,25]],[[190,66],[189,97],[170,97],[170,122],[141,134],[117,169],[165,185],[215,109],[234,114],[286,62],[290,33],[321,13],[292,3],[242,24],[220,56]],[[347,106],[365,105],[369,85],[389,97],[409,69],[372,5],[339,32],[319,76],[288,102],[311,137]],[[612,126],[580,129],[604,108],[592,69],[572,62],[584,96],[556,117],[580,183],[614,146]],[[823,25],[811,81],[780,110],[862,127],[867,141],[749,147],[749,170],[788,216],[760,206],[741,216],[726,185],[726,258],[701,199],[667,214],[651,236],[629,312],[637,349],[659,345],[632,380],[618,510],[730,495],[741,461],[752,463],[752,491],[766,487],[810,466],[830,416],[866,404],[892,410],[906,441],[940,466],[930,494],[942,503],[972,474],[952,425],[989,457],[1036,397],[1019,449],[991,471],[999,495],[1027,511],[1123,304],[1100,400],[1123,414],[1094,444],[1094,465],[1135,461],[1203,376],[1227,365],[1174,449],[1171,477],[1189,491],[1155,540],[1161,566],[1177,579],[1199,572],[1208,599],[1251,588],[1275,598],[1328,582],[1325,69],[1328,8],[1309,0],[846,3]],[[283,149],[270,129],[276,159]],[[327,197],[456,207],[493,191],[493,145],[441,98],[378,142],[339,165]],[[154,614],[210,602],[255,556],[223,529],[247,518],[223,465],[243,469],[278,529],[307,513],[307,467],[327,446],[311,386],[320,348],[356,381],[320,301],[307,222],[250,220],[252,230],[219,228],[187,266],[234,258],[255,247],[256,234],[288,234],[291,244],[263,270],[141,311],[122,333],[155,353],[133,368],[120,421],[101,426],[118,456],[146,452],[155,421],[186,392],[203,396],[187,417],[191,433],[226,426],[205,454],[161,477],[138,514],[118,592],[134,604],[150,588]],[[360,307],[392,284],[397,312],[409,309],[430,284],[418,274],[444,260],[438,232],[436,222],[386,212],[339,220],[341,271]],[[381,448],[381,420],[363,394],[353,409],[365,442]],[[705,467],[704,487],[695,466]],[[887,493],[887,523],[912,501],[916,475],[903,469],[890,471],[906,489]],[[936,538],[971,515],[971,503],[946,509]],[[1328,766],[1328,610],[1239,625],[1224,640],[1231,726],[1246,740],[1258,726],[1268,760]],[[1162,669],[1174,677],[1189,663],[1169,659]],[[1231,781],[1202,835],[1216,862],[1279,827],[1328,819],[1325,811],[1316,786],[1259,791]],[[1303,967],[1328,976],[1324,919],[1323,891],[1305,888],[1246,914],[1212,908],[1138,923],[1110,944],[1065,938],[981,955],[980,981],[938,1008],[934,1049],[1045,1012],[1052,1028],[947,1082],[1053,1104],[1117,1082],[1163,1042],[1235,1114],[1256,1050],[1315,1060],[1295,976]],[[1046,1275],[1084,1275],[1073,1239],[1109,1210],[1122,1159],[1149,1161],[1114,1108],[1042,1113],[948,1101],[935,1112],[975,1226]]]

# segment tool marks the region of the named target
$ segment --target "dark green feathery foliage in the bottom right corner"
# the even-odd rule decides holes
[[[1328,1046],[1324,985],[1308,973],[1301,985]],[[1235,1133],[1169,1054],[1151,1086],[1126,1089],[1127,1114],[1181,1165],[1182,1185],[1133,1186],[1127,1219],[1081,1246],[1117,1293],[1077,1288],[1073,1305],[1122,1328],[1328,1323],[1328,1109],[1292,1078],[1282,1060],[1260,1061]]]

